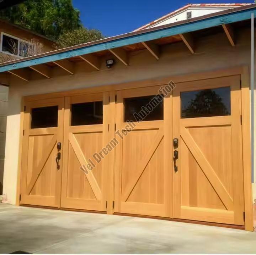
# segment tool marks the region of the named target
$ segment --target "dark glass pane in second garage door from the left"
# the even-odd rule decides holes
[[[71,126],[103,123],[103,101],[72,104]]]

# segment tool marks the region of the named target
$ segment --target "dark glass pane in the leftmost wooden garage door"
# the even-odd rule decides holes
[[[58,105],[33,108],[31,111],[31,128],[58,126]]]

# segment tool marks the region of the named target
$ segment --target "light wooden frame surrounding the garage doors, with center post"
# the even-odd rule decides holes
[[[78,94],[90,94],[97,92],[109,92],[111,95],[111,109],[114,107],[114,93],[115,90],[122,90],[128,88],[151,87],[156,85],[164,85],[170,81],[174,83],[196,81],[202,79],[211,79],[224,76],[241,76],[241,115],[242,115],[242,159],[243,159],[243,174],[244,174],[244,201],[245,201],[245,229],[253,231],[253,211],[252,211],[252,184],[251,184],[251,135],[250,135],[250,71],[249,65],[223,68],[220,70],[211,70],[198,73],[183,74],[177,76],[161,77],[147,79],[143,81],[125,82],[119,84],[110,84],[105,86],[75,89],[64,92],[47,93],[40,95],[23,96],[21,100],[20,111],[20,143],[18,153],[18,174],[17,174],[17,189],[16,189],[16,205],[20,204],[20,181],[21,181],[21,156],[23,143],[23,123],[24,123],[24,107],[27,101],[34,101],[39,99],[56,98],[61,96],[71,96]],[[111,111],[110,116],[110,138],[114,135],[115,112]],[[114,176],[114,156],[112,154],[109,160],[110,166],[110,182],[113,183]],[[113,190],[108,191],[108,198],[113,199]],[[112,203],[108,203],[107,213],[113,214]]]

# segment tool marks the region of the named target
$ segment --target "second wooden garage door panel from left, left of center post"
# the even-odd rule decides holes
[[[106,211],[107,158],[93,155],[107,144],[108,98],[102,93],[65,98],[63,208]]]

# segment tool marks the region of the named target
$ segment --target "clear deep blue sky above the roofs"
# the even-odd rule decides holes
[[[73,0],[73,5],[80,10],[81,21],[85,27],[99,29],[103,35],[109,37],[131,32],[188,2],[189,0]],[[202,2],[223,3],[225,1],[207,0]],[[237,2],[253,1],[238,0]],[[200,3],[200,1],[190,1],[190,3]]]

